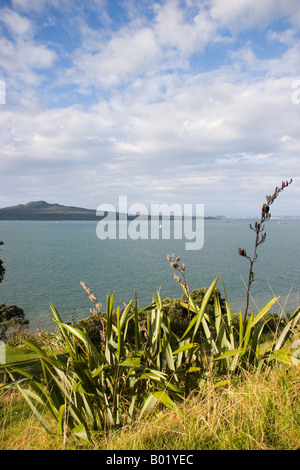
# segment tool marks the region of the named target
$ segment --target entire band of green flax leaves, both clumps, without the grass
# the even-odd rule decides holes
[[[93,442],[97,433],[141,420],[158,406],[180,416],[178,404],[191,392],[201,390],[207,381],[214,386],[224,385],[243,370],[260,371],[278,360],[293,365],[293,358],[284,346],[299,321],[300,308],[271,346],[261,351],[259,339],[268,322],[267,313],[278,298],[272,299],[256,316],[251,315],[245,330],[240,313],[236,331],[227,300],[226,311],[220,307],[216,294],[218,279],[207,289],[201,305],[193,301],[186,282],[179,281],[186,300],[173,302],[189,307],[193,314],[181,337],[172,331],[164,308],[164,300],[172,300],[162,299],[159,290],[150,305],[140,309],[136,295],[135,303],[129,302],[123,311],[119,307],[114,309],[114,294],[107,294],[97,345],[84,329],[63,323],[51,304],[57,335],[64,345],[63,355],[24,340],[39,355],[41,372],[30,373],[19,364],[3,365],[0,372],[5,371],[10,382],[0,390],[17,388],[51,435],[65,439],[71,433],[75,438]],[[94,297],[90,298],[98,304]],[[211,298],[213,317],[206,313]],[[100,314],[99,309],[95,314]],[[55,419],[56,431],[41,408]]]

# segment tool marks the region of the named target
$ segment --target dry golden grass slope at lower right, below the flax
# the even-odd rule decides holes
[[[266,376],[245,374],[223,389],[208,385],[178,411],[162,411],[119,433],[102,449],[300,449],[299,368]]]

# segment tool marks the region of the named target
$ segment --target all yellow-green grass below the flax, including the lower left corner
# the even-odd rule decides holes
[[[158,406],[140,422],[100,432],[93,445],[51,438],[13,390],[0,402],[0,449],[299,450],[299,383],[299,367],[280,363],[224,387],[207,382],[176,410]]]

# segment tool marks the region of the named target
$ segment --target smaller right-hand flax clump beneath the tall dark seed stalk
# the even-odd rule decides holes
[[[169,259],[167,257],[167,259]],[[178,266],[171,267],[178,270]],[[216,293],[216,285],[219,276],[213,281],[207,289],[201,305],[197,305],[189,289],[186,280],[184,283],[176,279],[181,285],[186,301],[174,301],[181,307],[193,313],[193,318],[183,333],[180,342],[185,341],[184,348],[189,350],[188,359],[185,361],[187,372],[196,373],[199,377],[198,385],[201,384],[204,377],[209,375],[216,378],[219,384],[222,375],[238,375],[242,370],[255,370],[259,372],[262,367],[270,365],[276,360],[280,360],[289,365],[293,365],[292,355],[284,347],[289,338],[296,332],[300,320],[300,307],[286,321],[285,326],[279,336],[275,335],[271,345],[265,347],[260,344],[260,339],[265,331],[267,323],[271,317],[268,315],[272,306],[278,301],[279,297],[271,299],[257,315],[251,314],[245,319],[240,312],[234,316],[231,312],[230,304],[227,301],[225,285],[226,312],[224,313],[220,306],[219,297]],[[214,315],[208,316],[206,308],[209,299],[214,299]],[[168,299],[172,301],[171,299]],[[238,327],[236,327],[238,320]],[[202,330],[200,335],[201,343],[196,341],[197,333]],[[174,353],[173,353],[174,354]],[[187,376],[187,382],[189,377]]]

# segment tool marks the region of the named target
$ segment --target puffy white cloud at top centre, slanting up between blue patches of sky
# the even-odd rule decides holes
[[[191,19],[184,17],[177,2],[154,4],[153,10],[152,24],[132,19],[108,40],[82,27],[84,44],[92,52],[77,51],[70,75],[74,82],[111,86],[145,73],[153,77],[168,69],[186,70],[192,54],[203,52],[210,40],[219,40],[209,14],[201,8]]]

